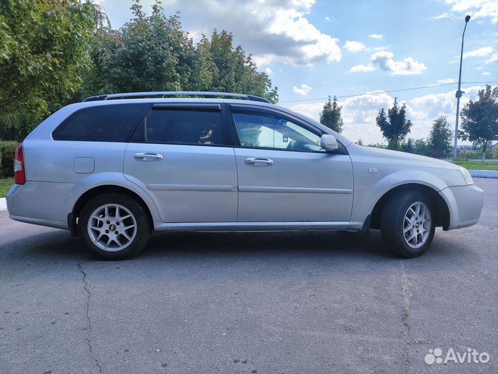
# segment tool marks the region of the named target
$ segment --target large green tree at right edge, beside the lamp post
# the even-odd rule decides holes
[[[479,90],[479,99],[470,100],[462,109],[462,130],[458,137],[481,145],[483,159],[492,141],[498,139],[498,87]]]

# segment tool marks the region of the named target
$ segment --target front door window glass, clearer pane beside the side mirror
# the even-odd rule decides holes
[[[233,116],[243,147],[325,152],[320,148],[320,136],[284,118],[248,113]]]

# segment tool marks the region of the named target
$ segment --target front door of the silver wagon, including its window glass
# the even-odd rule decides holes
[[[232,107],[240,146],[239,222],[348,222],[352,163],[327,153],[318,130],[294,118]]]

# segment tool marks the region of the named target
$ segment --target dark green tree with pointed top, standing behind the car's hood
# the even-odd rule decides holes
[[[388,141],[388,148],[393,150],[399,149],[400,142],[409,134],[412,126],[411,121],[406,120],[406,104],[398,108],[397,98],[394,99],[393,107],[388,109],[387,115],[384,108],[379,110],[375,121]]]

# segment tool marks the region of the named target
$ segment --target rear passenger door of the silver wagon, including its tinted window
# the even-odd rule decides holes
[[[125,152],[124,174],[155,195],[163,222],[235,222],[237,166],[218,104],[156,104]]]

